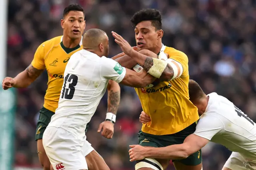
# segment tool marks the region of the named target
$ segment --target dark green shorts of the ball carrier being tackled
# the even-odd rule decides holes
[[[196,123],[193,123],[189,127],[174,134],[153,135],[153,134],[144,133],[140,130],[140,132],[138,133],[139,144],[141,146],[152,146],[155,148],[170,146],[173,144],[182,144],[185,138],[188,135],[194,133],[195,130],[196,130]],[[181,162],[182,164],[188,165],[188,166],[196,166],[202,162],[201,150],[188,156],[188,158],[186,159],[172,160],[172,162],[174,161]]]

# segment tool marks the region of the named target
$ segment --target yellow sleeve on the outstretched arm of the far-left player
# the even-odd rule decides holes
[[[34,55],[34,59],[31,62],[32,66],[36,69],[45,69],[44,64],[44,43],[42,43],[37,49]]]

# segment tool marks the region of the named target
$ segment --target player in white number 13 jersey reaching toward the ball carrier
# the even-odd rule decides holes
[[[82,43],[84,49],[74,53],[66,65],[58,108],[43,135],[44,149],[55,170],[88,170],[84,157],[94,148],[86,141],[84,130],[109,80],[131,87],[146,87],[155,80],[146,72],[137,73],[106,58],[109,47],[104,31],[88,30]],[[106,121],[114,124],[115,119],[116,115],[107,113]],[[103,159],[97,163],[105,164]]]

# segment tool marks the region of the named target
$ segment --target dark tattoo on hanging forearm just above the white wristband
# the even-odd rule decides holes
[[[108,112],[116,115],[120,102],[120,91],[110,90],[108,93]]]

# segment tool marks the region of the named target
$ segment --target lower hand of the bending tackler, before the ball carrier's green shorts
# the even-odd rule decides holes
[[[135,160],[142,160],[146,158],[146,156],[144,156],[144,152],[146,150],[145,147],[136,144],[136,145],[130,145],[130,148],[131,148],[129,150],[130,162]]]

